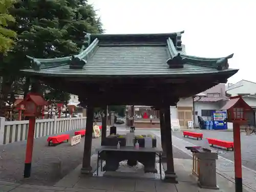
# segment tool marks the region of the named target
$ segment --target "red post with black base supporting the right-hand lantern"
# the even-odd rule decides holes
[[[243,191],[242,179],[242,158],[241,158],[241,136],[240,124],[238,121],[233,121],[233,143],[234,143],[234,181],[236,192]]]

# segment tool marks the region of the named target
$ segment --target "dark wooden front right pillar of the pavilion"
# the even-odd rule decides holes
[[[172,130],[170,126],[170,106],[164,108],[164,124],[165,124],[165,142],[166,142],[166,163],[165,180],[169,183],[177,183],[176,174],[174,172],[174,157],[173,157],[173,143]]]

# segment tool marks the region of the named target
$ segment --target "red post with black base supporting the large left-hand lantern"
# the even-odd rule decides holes
[[[31,173],[31,161],[32,161],[33,145],[34,145],[34,134],[35,134],[35,120],[36,120],[36,117],[30,117],[29,119],[24,178],[30,177],[30,173]]]

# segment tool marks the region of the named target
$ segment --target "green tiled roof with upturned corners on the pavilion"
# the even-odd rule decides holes
[[[46,76],[180,76],[236,73],[228,69],[228,58],[185,55],[181,33],[88,34],[87,48],[78,55],[31,59],[25,73]]]

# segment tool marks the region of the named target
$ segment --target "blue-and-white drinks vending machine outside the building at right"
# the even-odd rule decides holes
[[[226,130],[227,122],[225,119],[227,118],[227,113],[223,111],[216,111],[212,113],[212,120],[214,121],[212,125],[212,129],[214,130]]]

